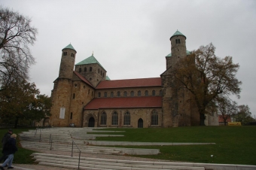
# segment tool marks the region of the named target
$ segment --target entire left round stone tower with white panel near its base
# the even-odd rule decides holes
[[[52,107],[50,109],[51,126],[67,126],[69,124],[69,110],[72,98],[72,77],[75,65],[76,50],[69,44],[62,49],[59,66],[59,77],[53,82],[51,94]]]

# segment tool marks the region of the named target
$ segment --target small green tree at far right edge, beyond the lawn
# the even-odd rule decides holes
[[[239,105],[238,112],[233,114],[233,120],[236,122],[241,122],[242,125],[255,121],[254,118],[251,117],[251,111],[248,105]]]

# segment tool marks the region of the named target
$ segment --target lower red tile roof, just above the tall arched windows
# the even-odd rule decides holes
[[[86,106],[84,106],[84,109],[159,107],[162,107],[161,96],[143,96],[126,98],[95,98]]]

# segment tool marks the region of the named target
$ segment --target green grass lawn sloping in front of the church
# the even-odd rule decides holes
[[[190,126],[106,130],[126,132],[109,132],[108,134],[123,134],[125,136],[96,138],[96,140],[216,143],[188,146],[140,146],[140,148],[160,149],[159,155],[142,157],[186,162],[256,165],[256,126]]]

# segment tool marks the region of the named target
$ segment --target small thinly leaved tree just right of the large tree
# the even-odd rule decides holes
[[[233,114],[237,113],[237,103],[227,97],[220,97],[216,99],[218,115],[224,120],[226,126],[227,120],[231,119]]]

